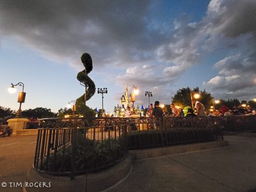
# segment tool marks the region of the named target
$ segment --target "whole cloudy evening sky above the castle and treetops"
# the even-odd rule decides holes
[[[23,109],[57,112],[83,94],[81,54],[90,77],[107,87],[107,111],[125,83],[136,104],[170,103],[179,88],[199,86],[216,99],[256,97],[256,1],[15,1],[0,0],[0,106],[17,109],[10,83],[27,93]],[[18,88],[21,91],[21,88]],[[95,93],[90,108],[101,108]]]

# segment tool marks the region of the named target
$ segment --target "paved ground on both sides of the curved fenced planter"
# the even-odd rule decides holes
[[[108,191],[256,191],[256,135],[225,140],[230,147],[136,161],[131,174]],[[26,181],[35,141],[36,136],[0,138],[0,191],[21,191],[1,183]]]

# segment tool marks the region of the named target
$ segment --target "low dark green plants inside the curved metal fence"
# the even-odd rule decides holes
[[[122,148],[122,140],[109,138],[103,141],[93,141],[84,138],[83,134],[77,134],[76,149],[76,172],[86,170],[98,170],[116,163],[125,154]],[[47,172],[70,172],[71,171],[72,146],[63,148],[59,152],[45,157],[42,170]]]

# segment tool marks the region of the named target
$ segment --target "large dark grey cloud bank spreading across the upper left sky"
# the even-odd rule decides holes
[[[79,61],[83,52],[92,54],[98,68],[131,65],[145,58],[152,47],[155,32],[147,32],[145,21],[149,3],[2,1],[0,34],[33,47],[50,60],[70,61],[70,65],[77,65],[74,60]]]

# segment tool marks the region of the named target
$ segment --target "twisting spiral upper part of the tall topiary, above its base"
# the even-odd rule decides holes
[[[77,80],[80,81],[80,84],[86,87],[86,93],[84,94],[86,94],[86,100],[89,100],[95,93],[95,84],[92,79],[88,77],[88,74],[92,71],[93,68],[92,57],[87,52],[84,52],[84,54],[82,54],[81,56],[81,61],[85,69],[77,74]],[[86,100],[84,98],[84,94],[79,97],[77,101],[85,103]]]

